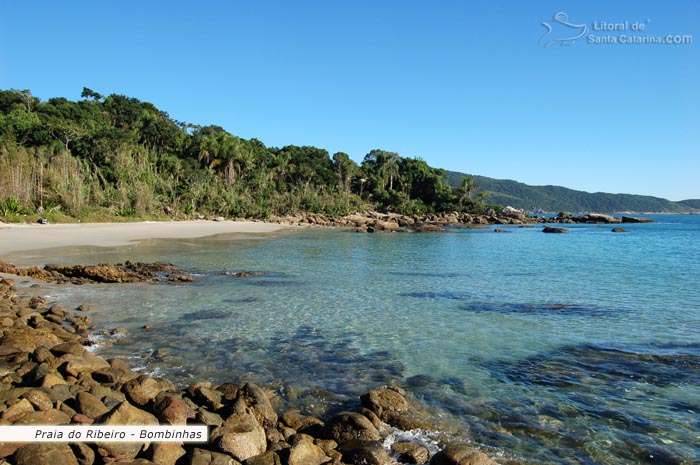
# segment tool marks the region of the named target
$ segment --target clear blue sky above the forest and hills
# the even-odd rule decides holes
[[[83,86],[268,146],[700,198],[696,0],[0,0],[0,88]]]

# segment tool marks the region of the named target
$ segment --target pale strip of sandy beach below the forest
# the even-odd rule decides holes
[[[146,221],[46,225],[0,223],[0,257],[51,247],[114,247],[145,239],[193,239],[232,233],[259,234],[289,228],[287,225],[252,221]]]

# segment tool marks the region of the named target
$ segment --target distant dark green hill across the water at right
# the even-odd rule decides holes
[[[447,172],[452,186],[458,185],[463,176],[472,177],[480,190],[489,193],[488,203],[510,205],[526,211],[687,213],[700,209],[700,200],[672,202],[647,195],[590,193],[560,186],[529,186],[509,179]]]

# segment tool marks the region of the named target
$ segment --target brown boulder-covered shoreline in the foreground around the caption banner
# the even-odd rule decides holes
[[[83,307],[85,308],[85,307]],[[178,389],[92,353],[90,318],[42,297],[18,295],[0,278],[0,425],[186,425],[209,429],[206,444],[7,443],[7,465],[492,465],[467,445],[429,450],[393,441],[397,430],[433,430],[398,387],[361,396],[362,408],[328,419],[279,413],[275,392],[252,383],[199,381]],[[389,439],[387,439],[389,438]]]

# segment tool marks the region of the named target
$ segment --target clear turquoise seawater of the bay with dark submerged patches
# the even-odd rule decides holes
[[[504,462],[700,463],[700,217],[656,219],[62,250],[199,282],[50,292],[129,329],[104,355],[184,384],[253,380],[321,413],[397,383]],[[266,274],[223,274],[241,270]]]

